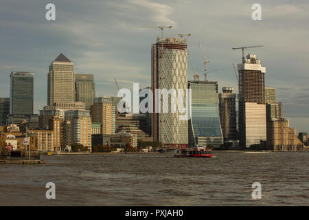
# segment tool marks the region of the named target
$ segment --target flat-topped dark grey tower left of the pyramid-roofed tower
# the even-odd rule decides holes
[[[34,101],[34,74],[10,74],[10,114],[32,115]]]

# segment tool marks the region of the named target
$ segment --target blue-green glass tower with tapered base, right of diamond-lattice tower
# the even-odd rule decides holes
[[[198,144],[219,148],[223,136],[219,116],[218,83],[189,81],[192,89],[191,119],[189,120],[190,145]]]

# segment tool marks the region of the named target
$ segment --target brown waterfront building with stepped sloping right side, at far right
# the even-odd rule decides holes
[[[290,129],[286,118],[272,118],[267,126],[266,146],[272,151],[304,151],[304,143]]]

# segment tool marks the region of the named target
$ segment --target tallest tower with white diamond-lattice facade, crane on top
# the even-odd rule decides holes
[[[187,120],[180,120],[179,111],[170,111],[170,99],[168,103],[161,102],[160,107],[156,107],[156,89],[183,89],[186,94],[187,89],[187,39],[157,39],[157,43],[152,45],[152,93],[153,109],[163,109],[163,104],[168,106],[168,113],[152,113],[152,136],[155,142],[163,144],[188,144]],[[161,95],[160,95],[161,96]],[[186,97],[183,98],[186,100]],[[183,103],[185,107],[187,103]]]

